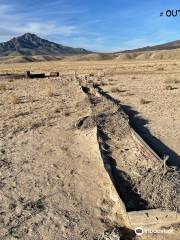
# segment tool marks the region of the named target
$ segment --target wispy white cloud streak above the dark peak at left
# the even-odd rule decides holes
[[[79,31],[77,26],[61,25],[52,21],[36,21],[33,18],[26,22],[25,19],[25,14],[17,13],[17,9],[14,5],[0,4],[0,41],[6,41],[10,37],[25,32],[31,32],[42,36],[53,34],[70,36]]]

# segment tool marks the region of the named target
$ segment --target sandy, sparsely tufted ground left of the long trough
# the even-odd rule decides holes
[[[0,239],[97,239],[123,226],[95,129],[73,128],[89,113],[74,82],[8,82],[0,109]]]

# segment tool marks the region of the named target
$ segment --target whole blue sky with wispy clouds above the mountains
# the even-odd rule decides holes
[[[0,0],[0,42],[31,32],[64,45],[117,51],[180,39],[176,0]]]

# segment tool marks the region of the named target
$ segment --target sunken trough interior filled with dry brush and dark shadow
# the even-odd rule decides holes
[[[166,209],[179,211],[180,172],[147,156],[132,136],[129,118],[115,99],[106,98],[97,85],[79,78],[92,115],[77,127],[96,126],[104,166],[127,211]]]

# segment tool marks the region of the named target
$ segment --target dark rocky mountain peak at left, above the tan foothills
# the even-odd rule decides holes
[[[24,35],[12,38],[0,43],[0,56],[37,56],[37,55],[74,55],[87,54],[89,51],[83,48],[72,48],[42,39],[35,34],[25,33]]]

